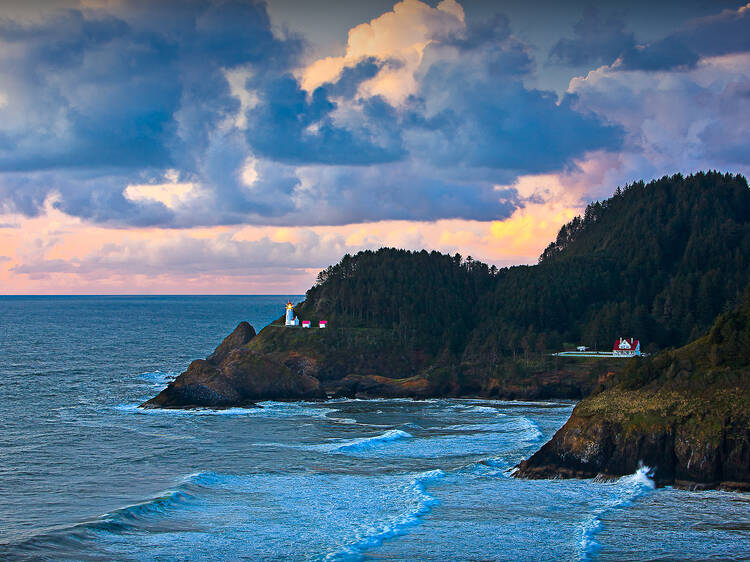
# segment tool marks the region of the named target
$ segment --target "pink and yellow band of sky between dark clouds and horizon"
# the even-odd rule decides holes
[[[50,203],[0,227],[3,293],[300,293],[345,253],[382,246],[533,263],[578,209],[531,204],[505,221],[386,221],[322,227],[109,229]]]

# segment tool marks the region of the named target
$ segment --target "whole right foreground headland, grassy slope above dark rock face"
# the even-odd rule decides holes
[[[749,295],[708,336],[634,360],[580,402],[517,476],[621,476],[642,463],[658,484],[750,490]]]

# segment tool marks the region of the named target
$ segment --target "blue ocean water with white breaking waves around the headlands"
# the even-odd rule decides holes
[[[510,477],[572,402],[140,410],[285,297],[0,297],[0,559],[749,559],[750,495]]]

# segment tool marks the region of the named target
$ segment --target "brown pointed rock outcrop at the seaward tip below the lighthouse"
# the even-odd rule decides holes
[[[294,364],[285,365],[247,344],[255,330],[242,322],[207,359],[193,361],[144,408],[227,408],[261,400],[325,397],[318,379]]]

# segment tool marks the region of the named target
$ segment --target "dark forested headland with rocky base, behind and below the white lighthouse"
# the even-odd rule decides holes
[[[550,352],[611,350],[618,336],[638,338],[647,352],[683,346],[734,309],[749,282],[747,180],[678,174],[590,204],[535,265],[497,269],[394,248],[346,255],[295,307],[328,328],[285,328],[280,319],[237,351],[263,361],[235,361],[232,372],[239,380],[237,365],[262,363],[274,380],[278,366],[284,380],[317,381],[301,386],[316,396],[580,398],[626,362]],[[223,380],[221,364],[201,369],[208,374],[194,384],[208,398],[196,390],[193,405],[216,402],[203,382]]]

